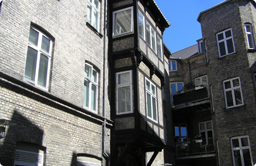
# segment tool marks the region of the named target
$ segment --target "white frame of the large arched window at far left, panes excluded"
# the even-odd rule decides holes
[[[25,70],[24,70],[24,80],[33,83],[36,87],[40,87],[44,90],[48,90],[49,75],[50,75],[50,68],[51,68],[51,58],[52,58],[52,38],[50,38],[46,34],[42,33],[42,31],[39,31],[34,26],[30,26],[30,30],[31,29],[33,29],[34,31],[36,31],[38,33],[38,41],[37,41],[37,45],[34,45],[30,41],[28,41],[27,56],[26,56],[26,63],[25,63]],[[49,53],[47,53],[47,51],[44,51],[42,49],[42,38],[43,38],[43,36],[50,41],[49,42]],[[28,49],[29,48],[32,48],[33,50],[37,51],[37,58],[36,58],[36,64],[35,64],[35,70],[34,70],[34,80],[29,79],[28,77],[26,78],[26,75],[25,75],[26,74],[26,67],[27,67],[27,60],[28,60]],[[42,55],[44,55],[48,58],[45,87],[38,84],[40,58],[41,58]]]

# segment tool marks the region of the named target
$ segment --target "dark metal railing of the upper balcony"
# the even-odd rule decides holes
[[[172,94],[172,106],[179,106],[186,103],[196,103],[209,98],[209,89],[205,87],[196,87],[188,91],[181,91],[177,94]]]

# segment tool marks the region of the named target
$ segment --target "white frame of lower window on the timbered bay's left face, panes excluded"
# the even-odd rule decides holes
[[[129,73],[130,80],[125,84],[118,84],[118,76],[124,73]],[[119,93],[118,89],[122,87],[130,87],[130,111],[120,112],[119,111]],[[125,102],[126,103],[126,102]],[[132,70],[117,72],[116,73],[116,115],[133,113],[133,84],[132,84]]]

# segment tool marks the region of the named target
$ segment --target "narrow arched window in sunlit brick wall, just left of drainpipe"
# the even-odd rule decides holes
[[[97,111],[98,72],[88,63],[84,67],[84,106]]]

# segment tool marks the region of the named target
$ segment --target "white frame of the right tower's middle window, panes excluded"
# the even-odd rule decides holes
[[[233,80],[238,79],[239,80],[239,86],[234,87],[233,85]],[[231,88],[225,89],[225,82],[230,82],[231,84]],[[235,78],[231,78],[231,79],[227,79],[223,81],[223,89],[224,89],[224,96],[225,96],[225,104],[226,104],[226,108],[233,108],[233,107],[237,107],[237,106],[243,106],[244,105],[244,99],[243,99],[243,93],[242,93],[242,89],[241,89],[241,82],[240,82],[240,77],[235,77]],[[240,89],[240,94],[241,94],[241,104],[236,104],[236,99],[235,99],[235,90],[236,89]],[[232,92],[232,101],[233,101],[233,106],[228,106],[227,103],[227,96],[226,96],[226,92],[227,91],[231,91]]]

